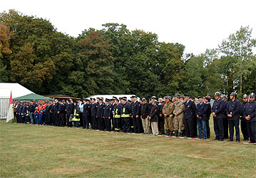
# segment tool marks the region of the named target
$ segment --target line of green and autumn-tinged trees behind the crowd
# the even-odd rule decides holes
[[[242,27],[198,56],[158,35],[103,24],[78,37],[58,32],[46,19],[15,10],[0,14],[0,82],[17,82],[35,93],[88,97],[189,93],[238,95],[256,88],[256,38]]]

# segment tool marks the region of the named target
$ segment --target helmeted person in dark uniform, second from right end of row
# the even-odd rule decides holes
[[[244,137],[242,140],[244,141],[249,140],[249,134],[247,131],[247,125],[246,125],[245,116],[244,116],[245,105],[247,102],[248,102],[248,95],[246,94],[242,95],[241,110],[240,110],[240,125],[241,125],[242,136]]]

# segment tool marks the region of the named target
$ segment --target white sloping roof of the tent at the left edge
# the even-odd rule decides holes
[[[29,93],[33,92],[19,83],[0,83],[0,98],[10,98],[11,94],[16,98]]]

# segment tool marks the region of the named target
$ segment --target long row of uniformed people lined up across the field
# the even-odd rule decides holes
[[[84,129],[114,132],[135,132],[175,137],[210,138],[210,115],[213,115],[215,138],[213,140],[255,143],[256,102],[255,93],[226,95],[215,93],[210,105],[209,96],[198,97],[176,93],[173,98],[77,98],[73,100],[31,100],[14,103],[14,122],[58,127],[83,127]]]

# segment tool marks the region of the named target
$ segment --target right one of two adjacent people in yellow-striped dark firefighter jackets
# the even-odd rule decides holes
[[[123,108],[121,110],[121,117],[123,122],[123,132],[130,132],[130,105],[126,102],[127,98],[122,98]]]

